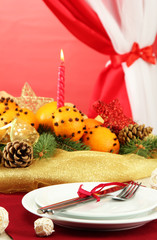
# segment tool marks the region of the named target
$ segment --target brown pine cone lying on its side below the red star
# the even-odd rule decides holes
[[[138,124],[129,124],[124,127],[118,134],[118,140],[121,144],[125,144],[130,142],[130,140],[134,139],[144,139],[152,132],[153,128],[145,127],[145,125]]]

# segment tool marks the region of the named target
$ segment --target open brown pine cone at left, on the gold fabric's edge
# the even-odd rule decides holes
[[[33,148],[24,141],[9,142],[3,150],[2,161],[8,168],[28,167],[33,161]]]

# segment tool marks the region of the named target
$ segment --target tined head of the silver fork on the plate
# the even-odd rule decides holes
[[[127,199],[132,198],[139,187],[141,186],[142,183],[137,183],[137,182],[131,182],[128,184],[126,187],[123,188],[123,190],[116,196],[112,197],[113,200],[120,200],[124,201]]]

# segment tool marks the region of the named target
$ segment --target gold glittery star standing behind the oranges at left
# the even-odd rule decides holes
[[[28,108],[34,113],[44,104],[54,101],[53,98],[38,97],[26,82],[22,88],[21,96],[15,98],[21,108]]]

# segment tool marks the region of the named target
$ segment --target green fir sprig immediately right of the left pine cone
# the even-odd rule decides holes
[[[38,142],[33,146],[34,158],[48,158],[54,155],[56,140],[52,133],[43,132]]]

